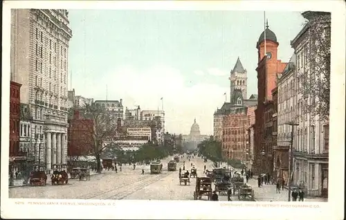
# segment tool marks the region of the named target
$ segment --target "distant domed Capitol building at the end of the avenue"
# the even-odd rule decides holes
[[[196,122],[196,118],[194,118],[194,123],[191,126],[190,134],[183,135],[183,145],[187,149],[196,149],[199,143],[208,138],[210,138],[210,136],[201,134],[201,131],[199,131],[199,125]]]

